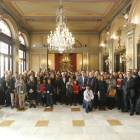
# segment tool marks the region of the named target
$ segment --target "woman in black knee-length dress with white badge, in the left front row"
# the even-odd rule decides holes
[[[27,91],[28,91],[28,99],[30,101],[30,107],[34,106],[36,108],[36,99],[37,99],[37,93],[36,93],[36,83],[34,81],[34,77],[30,76],[30,80],[27,84]],[[34,104],[33,104],[34,102]]]

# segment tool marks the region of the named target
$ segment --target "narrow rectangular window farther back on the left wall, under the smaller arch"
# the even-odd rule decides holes
[[[22,73],[26,70],[26,52],[19,50],[19,73]]]

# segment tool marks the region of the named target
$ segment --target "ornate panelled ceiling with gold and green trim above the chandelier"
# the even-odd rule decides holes
[[[71,32],[99,32],[127,0],[62,0]],[[56,27],[59,0],[2,0],[32,32]]]

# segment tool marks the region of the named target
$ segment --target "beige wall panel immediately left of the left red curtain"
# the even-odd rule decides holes
[[[48,54],[48,68],[55,70],[55,54]]]

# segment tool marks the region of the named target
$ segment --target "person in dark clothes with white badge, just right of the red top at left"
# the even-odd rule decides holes
[[[48,107],[50,104],[51,108],[53,108],[53,92],[54,88],[53,85],[51,84],[51,79],[48,79],[48,84],[46,85],[47,103],[45,107]]]

